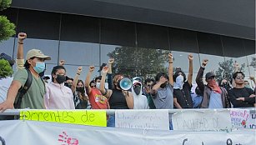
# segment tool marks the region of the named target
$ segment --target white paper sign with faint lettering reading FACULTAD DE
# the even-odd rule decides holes
[[[185,111],[172,116],[173,130],[179,131],[231,131],[229,110]]]

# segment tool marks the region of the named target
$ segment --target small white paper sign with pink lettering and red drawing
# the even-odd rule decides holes
[[[248,109],[231,109],[230,117],[233,128],[246,128],[249,113]]]

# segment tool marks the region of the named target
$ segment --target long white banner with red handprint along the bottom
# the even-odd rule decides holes
[[[253,145],[255,130],[180,132],[101,128],[56,122],[1,121],[2,145]]]

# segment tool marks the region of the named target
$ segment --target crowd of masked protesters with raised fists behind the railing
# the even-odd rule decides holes
[[[6,109],[183,109],[183,108],[230,108],[255,107],[255,88],[249,88],[243,72],[236,62],[233,81],[223,79],[216,82],[215,74],[207,72],[203,80],[208,59],[203,59],[193,87],[193,55],[188,54],[188,76],[182,68],[173,70],[173,54],[168,54],[168,73],[158,72],[155,78],[130,78],[132,87],[123,90],[122,74],[113,76],[113,58],[100,67],[101,76],[92,79],[94,66],[88,68],[85,81],[79,78],[83,67],[76,75],[67,77],[64,61],[53,67],[50,77],[44,76],[45,61],[51,57],[38,49],[31,49],[23,57],[23,43],[27,34],[18,33],[17,71],[9,87],[1,87],[0,112]],[[2,56],[4,56],[3,54]],[[2,57],[13,65],[9,57]],[[31,80],[28,81],[30,78]],[[250,77],[255,82],[254,77]],[[8,78],[2,78],[8,79]],[[106,81],[107,80],[107,81]],[[204,83],[206,82],[206,84]],[[30,84],[29,84],[30,82]],[[232,85],[231,85],[232,84]],[[20,95],[21,88],[26,92]],[[20,101],[18,101],[20,100]],[[14,104],[14,106],[13,106]],[[108,126],[114,125],[114,116],[108,117]]]

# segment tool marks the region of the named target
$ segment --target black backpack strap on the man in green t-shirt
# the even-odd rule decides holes
[[[28,72],[28,79],[25,82],[24,86],[20,87],[19,90],[18,90],[18,96],[17,96],[18,101],[14,103],[15,108],[21,108],[23,96],[24,96],[25,93],[28,92],[28,89],[31,86],[31,83],[32,83],[32,80],[33,80],[31,72],[28,70],[28,68],[26,68],[26,70]]]

